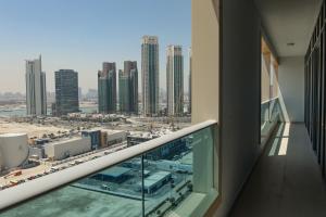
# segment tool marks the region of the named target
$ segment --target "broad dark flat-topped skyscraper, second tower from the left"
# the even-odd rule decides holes
[[[79,112],[78,73],[73,69],[55,72],[55,114]]]

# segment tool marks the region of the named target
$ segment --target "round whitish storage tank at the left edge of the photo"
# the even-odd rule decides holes
[[[26,133],[0,135],[0,165],[2,169],[20,166],[28,157],[28,138]]]

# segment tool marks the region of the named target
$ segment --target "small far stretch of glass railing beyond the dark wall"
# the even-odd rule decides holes
[[[261,143],[265,143],[274,126],[280,120],[279,99],[274,98],[261,104]]]

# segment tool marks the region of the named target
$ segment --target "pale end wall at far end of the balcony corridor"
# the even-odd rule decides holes
[[[304,58],[280,58],[278,82],[286,122],[304,122]]]

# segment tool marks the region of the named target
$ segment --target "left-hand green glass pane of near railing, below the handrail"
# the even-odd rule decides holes
[[[1,213],[1,217],[139,217],[141,164],[136,157]]]

